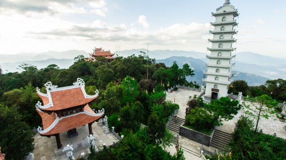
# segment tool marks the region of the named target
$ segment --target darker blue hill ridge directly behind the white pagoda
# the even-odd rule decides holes
[[[192,67],[192,69],[195,70],[195,75],[193,77],[187,77],[188,81],[196,81],[198,84],[202,84],[203,71],[207,70],[207,67],[205,67],[205,62],[203,60],[193,57],[172,56],[166,59],[158,59],[156,60],[156,62],[163,62],[166,64],[166,66],[172,66],[174,60],[177,61],[177,64],[180,68],[182,68],[183,65],[187,63]],[[234,71],[234,80],[245,80],[248,85],[261,85],[264,84],[268,79],[269,78],[260,75]]]

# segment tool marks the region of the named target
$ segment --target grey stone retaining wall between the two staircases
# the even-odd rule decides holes
[[[187,128],[187,127],[181,125],[179,135],[184,136],[186,138],[189,138],[191,140],[194,140],[196,142],[199,142],[201,144],[210,146],[210,142],[211,142],[213,132],[211,135],[207,135],[207,134],[197,132],[195,130],[192,130],[190,128]]]

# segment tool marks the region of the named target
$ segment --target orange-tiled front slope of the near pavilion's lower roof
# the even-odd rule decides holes
[[[88,105],[84,107],[84,110],[94,113],[94,111]],[[52,135],[52,134],[60,133],[63,131],[67,131],[67,130],[82,126],[84,124],[93,122],[99,119],[101,116],[103,116],[103,114],[100,116],[92,116],[92,115],[81,112],[78,114],[63,117],[62,119],[58,121],[58,123],[51,130],[49,130],[46,133],[42,133],[42,135]]]

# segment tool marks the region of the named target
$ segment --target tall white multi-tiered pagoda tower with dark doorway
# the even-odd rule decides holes
[[[210,30],[213,39],[209,39],[212,47],[208,48],[211,55],[207,55],[210,61],[206,64],[208,71],[204,71],[203,78],[203,82],[206,82],[206,100],[227,96],[228,85],[233,80],[231,67],[234,63],[230,61],[235,55],[231,54],[236,49],[232,47],[232,43],[236,41],[233,35],[237,33],[233,27],[238,24],[234,18],[239,14],[229,0],[225,0],[223,6],[217,8],[215,13],[212,12],[212,15],[216,19],[215,22],[211,22],[214,26],[214,30]]]

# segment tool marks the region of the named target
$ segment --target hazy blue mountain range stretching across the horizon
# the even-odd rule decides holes
[[[179,67],[184,63],[188,63],[194,70],[195,75],[188,77],[188,80],[196,81],[201,84],[203,70],[207,70],[205,63],[209,59],[206,58],[208,53],[185,51],[185,50],[147,50],[147,49],[131,49],[115,52],[117,56],[129,56],[132,54],[142,54],[145,52],[151,58],[156,58],[156,62],[164,62],[167,66],[171,66],[176,60]],[[286,79],[286,59],[265,56],[252,52],[235,52],[234,70],[235,80],[243,79],[248,85],[260,85],[265,83],[267,79]],[[25,53],[18,54],[0,54],[0,65],[4,72],[19,71],[16,69],[22,63],[31,63],[40,68],[47,67],[49,64],[57,64],[60,68],[68,68],[73,64],[73,58],[78,55],[89,56],[83,50],[67,50],[67,51],[48,51],[41,53]],[[114,55],[114,56],[115,56]]]

